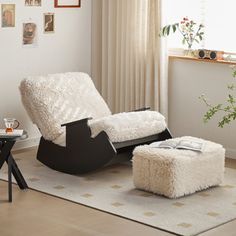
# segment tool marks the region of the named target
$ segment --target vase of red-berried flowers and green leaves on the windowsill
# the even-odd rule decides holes
[[[182,44],[187,45],[188,49],[185,52],[186,56],[194,56],[192,46],[194,43],[200,43],[203,40],[203,24],[197,24],[193,20],[184,17],[180,23],[166,25],[161,29],[160,36],[166,37],[170,33],[175,33],[177,30],[182,35]]]

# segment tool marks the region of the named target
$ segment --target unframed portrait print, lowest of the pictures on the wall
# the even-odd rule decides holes
[[[37,25],[23,23],[23,45],[35,46],[37,44]]]

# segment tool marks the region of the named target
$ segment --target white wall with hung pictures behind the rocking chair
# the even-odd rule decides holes
[[[25,7],[24,0],[0,0],[16,4],[16,27],[0,28],[0,127],[4,117],[15,117],[29,133],[19,147],[36,145],[39,132],[20,101],[18,86],[28,75],[66,71],[91,72],[91,0],[81,8],[54,8],[53,0],[42,7]],[[55,33],[43,33],[43,13],[55,13]],[[32,20],[38,26],[38,46],[22,47],[22,24]]]

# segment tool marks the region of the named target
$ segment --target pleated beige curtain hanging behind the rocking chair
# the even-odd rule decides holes
[[[159,0],[94,0],[92,77],[113,112],[143,106],[167,116],[167,60]]]

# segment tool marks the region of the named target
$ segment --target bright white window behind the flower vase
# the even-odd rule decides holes
[[[165,0],[166,24],[181,21],[185,16],[205,26],[205,40],[197,48],[236,52],[235,0]],[[168,38],[170,48],[183,47],[177,33]]]

